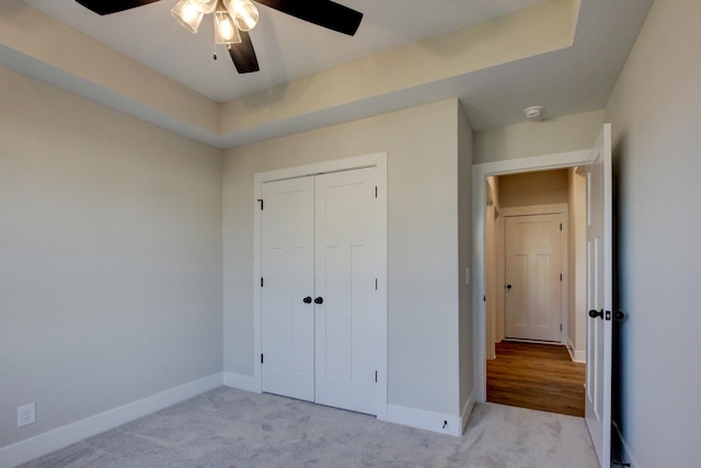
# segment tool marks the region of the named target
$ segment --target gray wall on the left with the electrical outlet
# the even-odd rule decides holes
[[[0,109],[0,447],[221,372],[221,152],[5,69]]]

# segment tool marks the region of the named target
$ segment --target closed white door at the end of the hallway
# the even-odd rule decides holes
[[[561,226],[559,214],[506,218],[506,338],[561,341]]]

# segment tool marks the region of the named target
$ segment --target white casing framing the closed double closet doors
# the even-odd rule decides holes
[[[262,350],[262,308],[261,308],[261,208],[258,201],[263,184],[266,182],[281,181],[286,179],[298,179],[309,175],[320,175],[331,172],[349,171],[354,169],[377,168],[378,181],[378,203],[380,204],[379,226],[376,237],[378,262],[378,301],[380,310],[384,313],[378,318],[376,330],[376,356],[375,362],[378,369],[377,391],[376,391],[376,415],[379,420],[387,420],[387,386],[388,386],[388,225],[387,225],[387,152],[378,152],[352,158],[323,161],[307,165],[278,169],[268,172],[258,172],[253,175],[253,383],[256,391],[263,391],[263,374],[261,367]]]

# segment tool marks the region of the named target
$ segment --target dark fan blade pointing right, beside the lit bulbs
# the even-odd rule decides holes
[[[355,35],[363,13],[331,0],[255,0],[266,7],[338,33]]]

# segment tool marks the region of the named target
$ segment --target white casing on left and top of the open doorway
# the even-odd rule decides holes
[[[486,401],[486,178],[520,172],[566,169],[587,164],[590,150],[559,152],[531,158],[484,162],[472,167],[472,323],[474,353],[474,400]]]

